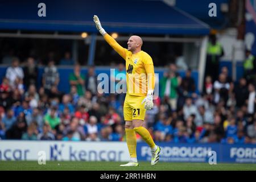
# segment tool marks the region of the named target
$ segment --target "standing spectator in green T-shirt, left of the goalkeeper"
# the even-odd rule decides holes
[[[76,86],[77,93],[79,96],[83,96],[85,93],[85,77],[81,73],[81,68],[79,64],[76,64],[74,67],[74,72],[69,75],[69,84],[71,86]]]

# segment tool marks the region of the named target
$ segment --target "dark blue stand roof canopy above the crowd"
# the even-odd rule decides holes
[[[14,3],[15,2],[15,3]],[[4,1],[1,30],[97,32],[96,14],[107,32],[128,34],[207,35],[209,26],[162,1],[49,1],[46,17],[38,16],[40,1]]]

